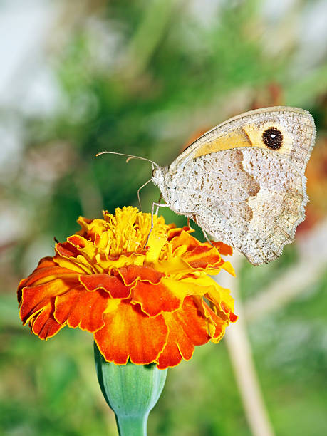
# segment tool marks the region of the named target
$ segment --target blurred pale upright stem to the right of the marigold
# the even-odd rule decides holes
[[[232,264],[234,269],[239,269],[242,255],[235,253]],[[246,419],[249,422],[251,433],[254,436],[273,436],[271,423],[269,421],[264,399],[261,395],[259,380],[256,375],[254,361],[251,353],[251,345],[246,333],[242,301],[239,298],[239,282],[236,277],[219,274],[219,284],[231,290],[236,299],[239,315],[237,323],[229,326],[225,335],[229,357],[234,369],[239,393],[242,398]]]

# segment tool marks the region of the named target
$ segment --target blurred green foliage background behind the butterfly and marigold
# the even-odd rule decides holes
[[[239,290],[274,432],[327,434],[326,16],[318,0],[1,1],[0,435],[117,434],[92,336],[65,328],[40,341],[15,293],[78,215],[137,206],[150,165],[95,154],[165,165],[203,131],[269,105],[316,120],[311,203],[279,260],[242,263]],[[141,195],[150,211],[159,192]],[[251,435],[225,340],[168,372],[149,434]]]

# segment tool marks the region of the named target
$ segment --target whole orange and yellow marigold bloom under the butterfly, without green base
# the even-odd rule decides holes
[[[188,227],[167,225],[134,207],[85,219],[19,284],[20,316],[41,339],[64,326],[94,334],[105,360],[163,369],[214,343],[236,321],[229,290],[208,274],[225,269],[222,242],[200,243]],[[220,253],[220,254],[219,254]]]

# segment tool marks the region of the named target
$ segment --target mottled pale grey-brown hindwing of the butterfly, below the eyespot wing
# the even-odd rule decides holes
[[[180,182],[181,207],[196,210],[205,232],[242,251],[252,264],[275,259],[304,217],[301,175],[268,150],[246,147],[217,155],[219,171],[212,155],[195,160],[192,184]]]

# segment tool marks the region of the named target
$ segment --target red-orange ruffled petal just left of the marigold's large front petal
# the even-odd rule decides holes
[[[104,326],[103,312],[110,296],[105,291],[86,291],[82,285],[56,298],[54,318],[69,327],[93,333]]]

